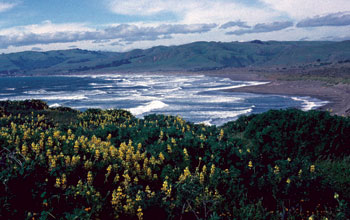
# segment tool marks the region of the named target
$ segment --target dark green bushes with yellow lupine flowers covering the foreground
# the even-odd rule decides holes
[[[349,219],[349,146],[328,112],[215,127],[0,102],[0,218]]]

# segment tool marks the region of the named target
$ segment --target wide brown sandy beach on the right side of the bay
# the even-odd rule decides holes
[[[309,96],[328,101],[326,105],[318,107],[318,110],[330,111],[339,116],[350,116],[350,85],[336,84],[327,85],[325,82],[316,80],[282,80],[281,75],[266,72],[207,72],[208,76],[227,77],[239,81],[265,81],[266,84],[244,86],[225,90],[227,92],[247,92],[256,94],[275,94],[288,96]]]

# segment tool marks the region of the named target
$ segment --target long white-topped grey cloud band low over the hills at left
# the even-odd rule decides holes
[[[171,39],[173,35],[178,34],[209,32],[216,26],[216,24],[162,24],[158,26],[120,24],[105,29],[91,29],[81,24],[53,24],[46,21],[41,25],[0,30],[0,48],[79,41],[101,43],[116,39],[123,42],[155,41]]]

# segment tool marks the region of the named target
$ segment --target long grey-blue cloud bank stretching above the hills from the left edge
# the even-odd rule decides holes
[[[54,26],[51,24],[51,26]],[[103,30],[86,31],[57,31],[57,32],[17,32],[7,35],[0,34],[0,48],[9,46],[27,46],[36,44],[67,43],[92,40],[96,43],[119,39],[123,42],[154,41],[169,39],[174,34],[194,34],[208,32],[215,28],[216,24],[163,24],[158,26],[138,26],[120,24],[107,27]]]

